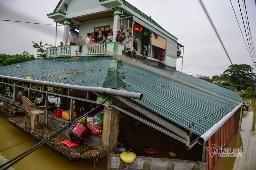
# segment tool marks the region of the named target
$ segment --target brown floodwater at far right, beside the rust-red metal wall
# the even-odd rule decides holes
[[[248,111],[243,112],[241,130],[235,134],[227,147],[243,147],[242,157],[221,157],[214,170],[256,169],[256,101],[243,98],[248,104]]]

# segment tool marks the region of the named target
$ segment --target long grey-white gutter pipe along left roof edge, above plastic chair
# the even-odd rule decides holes
[[[106,94],[140,99],[140,100],[143,99],[143,94],[141,94],[141,93],[134,93],[134,92],[123,91],[123,90],[108,89],[108,88],[103,88],[103,87],[78,86],[78,85],[71,85],[71,84],[64,84],[64,83],[57,83],[57,82],[50,82],[50,81],[23,79],[23,78],[19,78],[19,77],[10,77],[10,76],[4,76],[4,75],[0,75],[0,77],[5,78],[5,79],[17,80],[17,81],[25,81],[25,82],[30,82],[30,83],[51,85],[51,86],[62,87],[62,88],[67,88],[67,89],[91,91],[91,92],[96,92],[96,93],[106,93]]]

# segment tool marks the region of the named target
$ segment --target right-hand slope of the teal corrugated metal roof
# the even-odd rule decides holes
[[[168,70],[161,70],[171,73]],[[238,105],[137,66],[124,64],[124,72],[127,91],[140,92],[144,95],[143,100],[133,100],[197,135],[204,134]],[[172,74],[190,82],[188,78],[182,77],[184,73]],[[200,81],[200,84],[202,87],[210,86],[206,81]],[[226,90],[216,84],[213,86],[212,90],[215,92],[219,88],[225,91],[227,99],[230,99],[229,96],[236,96],[236,92],[232,90]],[[243,99],[236,97],[236,102],[241,103]]]

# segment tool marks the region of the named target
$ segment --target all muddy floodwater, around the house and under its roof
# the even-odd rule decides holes
[[[228,146],[229,148],[243,148],[243,155],[242,157],[221,157],[218,163],[215,165],[214,170],[256,170],[256,102],[252,101],[252,99],[244,98],[245,102],[249,105],[249,110],[244,111],[243,118],[242,118],[242,125],[241,131],[232,138],[231,142]],[[30,138],[25,133],[21,132],[19,129],[13,127],[10,123],[7,122],[7,116],[0,113],[0,165],[2,165],[7,160],[14,158],[15,156],[19,155],[20,153],[28,150],[30,147],[37,143],[36,140]],[[122,121],[134,121],[129,123],[128,127],[122,125]],[[130,134],[133,134],[133,131],[138,132],[139,129],[145,129],[149,127],[144,127],[147,125],[137,125],[138,120],[132,119],[121,119],[120,120],[120,129],[119,131],[122,133],[124,131],[129,131]],[[131,126],[132,125],[132,126]],[[137,128],[137,129],[136,129]],[[140,133],[142,135],[143,133]],[[147,134],[146,134],[147,135]],[[158,157],[158,158],[169,158],[169,147],[172,145],[175,149],[174,144],[170,141],[167,143],[166,136],[161,136],[161,133],[157,131],[154,132],[153,129],[150,130],[150,134],[147,136],[152,136],[154,140],[142,141],[143,137],[139,136],[128,136],[127,134],[119,134],[119,137],[123,137],[126,139],[127,142],[130,138],[130,142],[134,146],[134,148],[143,148],[144,145],[151,146],[156,144],[159,146],[158,151],[162,151],[159,155],[151,155],[151,157]],[[125,138],[126,137],[126,138]],[[166,140],[156,140],[156,139],[166,139]],[[171,140],[171,139],[170,139]],[[171,140],[173,141],[173,139]],[[121,141],[120,142],[125,142]],[[175,142],[175,141],[174,141]],[[19,144],[19,145],[17,145]],[[15,146],[16,145],[16,146]],[[143,146],[140,146],[143,145]],[[184,144],[182,144],[183,146]],[[9,148],[10,147],[10,148]],[[184,147],[184,146],[183,146]],[[199,147],[199,146],[198,146]],[[6,149],[9,148],[9,149]],[[167,148],[167,149],[166,149]],[[141,150],[141,149],[139,149]],[[195,147],[191,150],[185,149],[176,149],[175,153],[177,156],[176,159],[187,159],[187,160],[194,160],[198,161],[201,159],[201,154],[195,154]],[[166,153],[165,153],[166,152]],[[184,153],[183,153],[184,152]],[[137,153],[137,152],[136,152]],[[148,154],[145,152],[141,152],[142,154]],[[149,156],[149,155],[140,155],[138,156]],[[168,157],[169,156],[169,157]],[[150,157],[150,156],[149,156]],[[198,158],[197,158],[198,157]],[[170,157],[172,158],[172,157]],[[16,170],[45,170],[45,169],[62,169],[62,170],[79,170],[79,169],[86,169],[86,170],[103,170],[106,169],[100,165],[96,165],[94,167],[93,162],[91,163],[69,163],[67,160],[61,158],[59,155],[55,154],[50,149],[42,146],[36,151],[29,154],[27,157],[23,158],[21,161],[16,163],[12,166],[13,169]],[[10,168],[11,169],[11,168]]]

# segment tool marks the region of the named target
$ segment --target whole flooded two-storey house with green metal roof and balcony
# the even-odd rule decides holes
[[[184,146],[183,150],[194,149],[194,155],[206,162],[207,169],[213,168],[218,155],[211,158],[206,148],[213,144],[222,146],[239,132],[245,102],[235,91],[176,71],[176,59],[182,57],[177,47],[184,46],[177,43],[175,36],[124,0],[60,0],[47,16],[66,26],[63,42],[69,42],[70,29],[74,27],[82,37],[87,33],[96,37],[99,29],[103,33],[111,30],[116,35],[118,28],[123,25],[126,30],[131,20],[135,23],[132,32],[137,26],[134,36],[141,41],[137,54],[143,54],[145,48],[141,44],[150,46],[151,52],[146,54],[145,61],[132,62],[123,56],[124,45],[115,40],[51,47],[47,48],[46,59],[0,67],[0,83],[14,87],[13,94],[24,83],[30,83],[26,88],[45,94],[46,105],[49,96],[58,95],[62,97],[61,105],[69,108],[70,113],[74,103],[79,110],[97,104],[100,93],[115,95],[110,104],[104,104],[110,114],[109,126],[103,125],[102,145],[109,151],[116,144],[121,112],[170,136],[174,143]],[[127,30],[125,33],[131,34]],[[161,56],[156,56],[157,49],[162,51]],[[76,58],[69,61],[67,57]],[[39,86],[35,88],[33,84]],[[43,89],[44,86],[53,90]],[[20,106],[15,95],[11,100],[6,93],[0,97]]]

